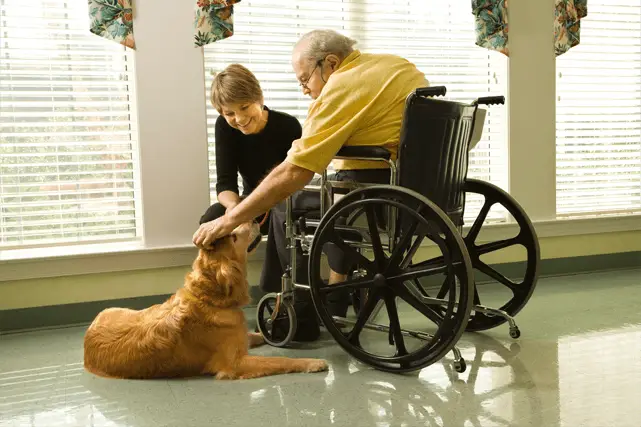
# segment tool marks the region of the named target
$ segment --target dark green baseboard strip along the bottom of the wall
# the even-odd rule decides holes
[[[592,273],[606,270],[621,270],[641,267],[641,252],[590,255],[572,258],[542,260],[539,277]],[[494,268],[507,277],[516,277],[523,269],[522,262],[495,265]],[[477,281],[489,281],[477,277]],[[263,292],[255,286],[250,288],[252,304],[255,305]],[[0,335],[16,331],[81,325],[90,323],[105,308],[127,307],[140,310],[162,303],[169,295],[151,295],[118,300],[90,301],[75,304],[45,307],[0,310]],[[251,317],[251,306],[248,317]]]

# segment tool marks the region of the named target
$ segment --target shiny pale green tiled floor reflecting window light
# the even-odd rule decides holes
[[[0,426],[641,426],[641,270],[544,279],[507,327],[465,334],[411,375],[364,366],[330,339],[261,354],[329,372],[248,381],[121,381],[82,368],[83,328],[0,336]]]

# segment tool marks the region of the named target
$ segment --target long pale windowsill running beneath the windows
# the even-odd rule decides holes
[[[573,235],[600,234],[641,230],[641,215],[540,221],[534,224],[539,239]],[[514,236],[514,224],[484,227],[479,241]],[[196,257],[191,244],[172,247],[145,247],[141,242],[60,246],[53,248],[0,251],[0,282],[186,267]],[[250,262],[264,259],[264,245],[250,256]]]

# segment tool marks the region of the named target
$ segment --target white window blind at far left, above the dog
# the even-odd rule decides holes
[[[88,25],[0,0],[0,248],[141,236],[132,56]]]

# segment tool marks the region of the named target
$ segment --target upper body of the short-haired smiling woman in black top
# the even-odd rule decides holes
[[[200,224],[223,216],[249,195],[274,166],[285,160],[292,142],[302,133],[298,119],[264,105],[256,76],[239,64],[216,75],[211,103],[220,113],[215,128],[218,203],[207,209]],[[239,174],[242,195],[238,191]],[[268,230],[268,221],[264,221],[261,232],[267,234]]]

